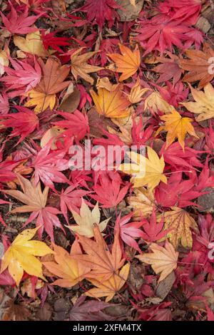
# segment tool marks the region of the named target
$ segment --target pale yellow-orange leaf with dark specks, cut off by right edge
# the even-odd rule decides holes
[[[204,121],[214,118],[214,88],[208,83],[203,91],[195,90],[190,86],[195,102],[182,103],[191,113],[198,114],[196,121]]]

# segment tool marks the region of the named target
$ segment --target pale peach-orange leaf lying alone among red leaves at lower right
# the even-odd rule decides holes
[[[177,267],[178,252],[175,252],[173,245],[168,241],[165,242],[165,247],[161,247],[156,243],[150,245],[150,249],[153,253],[140,254],[136,258],[140,259],[141,262],[151,264],[156,274],[161,273],[158,282],[165,279],[174,269]]]

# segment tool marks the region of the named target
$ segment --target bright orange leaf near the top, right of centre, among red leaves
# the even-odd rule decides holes
[[[111,64],[108,66],[108,69],[122,73],[119,81],[125,81],[138,71],[141,65],[141,54],[138,46],[136,46],[134,51],[131,51],[127,46],[123,46],[123,44],[119,43],[119,48],[122,55],[119,53],[107,53],[107,56],[116,63],[116,65]]]

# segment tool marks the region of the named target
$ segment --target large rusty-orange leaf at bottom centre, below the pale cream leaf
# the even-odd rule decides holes
[[[85,267],[90,267],[91,272],[87,274],[87,279],[102,277],[103,281],[110,279],[118,269],[120,269],[125,259],[122,259],[122,251],[118,238],[119,232],[114,236],[111,252],[99,230],[98,225],[94,225],[94,241],[88,237],[78,235],[78,240],[86,254],[73,255],[78,263]]]

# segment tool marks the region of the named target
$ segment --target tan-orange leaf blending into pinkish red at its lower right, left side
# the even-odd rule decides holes
[[[24,192],[19,190],[4,190],[4,192],[12,197],[15,197],[17,200],[24,202],[26,205],[11,210],[11,213],[32,212],[29,219],[26,220],[25,225],[28,225],[31,221],[36,220],[36,225],[39,226],[39,237],[41,238],[41,234],[45,230],[51,237],[51,241],[54,241],[53,226],[61,229],[63,228],[61,226],[61,222],[56,216],[60,212],[54,207],[46,207],[49,187],[45,187],[42,192],[40,182],[35,187],[33,183],[21,175],[16,174],[16,176]]]

